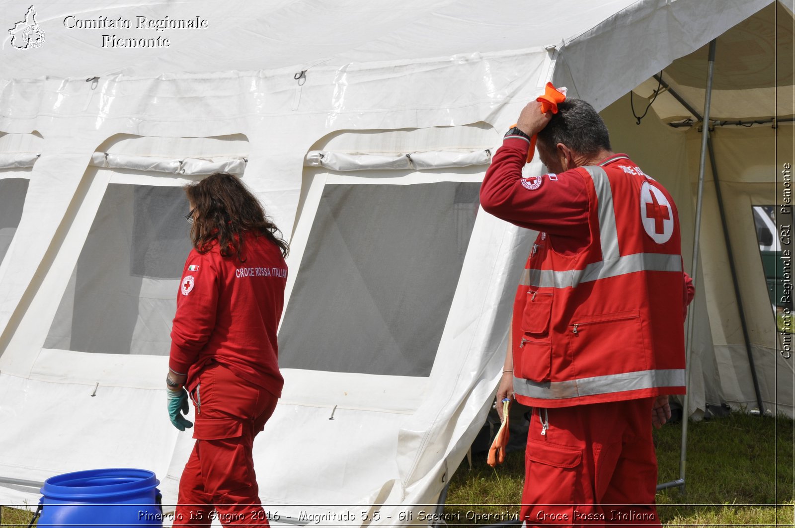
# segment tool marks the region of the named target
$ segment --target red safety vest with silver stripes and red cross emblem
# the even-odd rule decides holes
[[[565,407],[684,394],[684,278],[677,208],[629,158],[576,169],[588,246],[541,233],[514,303],[514,394]]]

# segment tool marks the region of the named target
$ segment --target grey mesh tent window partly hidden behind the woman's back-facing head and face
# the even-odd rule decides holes
[[[168,355],[187,212],[179,187],[108,185],[45,347]]]

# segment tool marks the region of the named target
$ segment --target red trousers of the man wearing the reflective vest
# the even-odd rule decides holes
[[[528,526],[659,525],[653,398],[533,408],[521,517]]]

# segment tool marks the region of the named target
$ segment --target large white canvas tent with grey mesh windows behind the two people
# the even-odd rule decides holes
[[[754,71],[738,59],[716,107],[725,90],[729,118],[791,117],[787,2],[2,2],[0,503],[102,467],[151,469],[175,501],[192,445],[165,417],[162,383],[187,253],[179,186],[221,167],[292,244],[285,391],[254,450],[266,509],[281,522],[355,512],[351,525],[428,510],[491,404],[533,235],[477,209],[502,131],[547,80],[567,86],[604,109],[615,147],[692,227],[697,131],[651,116],[634,128],[621,98],[648,95],[673,63],[665,80],[700,104],[693,61],[740,28],[766,39],[747,60],[789,46],[789,77],[760,69],[743,84]],[[760,10],[761,31],[743,26]],[[688,115],[665,97],[662,118]],[[738,101],[754,111],[736,115]],[[779,161],[792,160],[790,125],[774,131]],[[724,198],[776,203],[770,127],[735,132],[715,132]],[[757,157],[738,154],[748,141]],[[696,415],[755,401],[709,196]],[[730,222],[740,246],[753,225],[750,212]],[[751,254],[738,266],[762,397],[792,416],[764,277]]]

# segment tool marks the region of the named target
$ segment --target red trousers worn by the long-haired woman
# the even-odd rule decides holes
[[[270,526],[259,500],[251,450],[278,398],[239,379],[219,363],[191,390],[196,409],[193,446],[180,479],[173,526]]]

